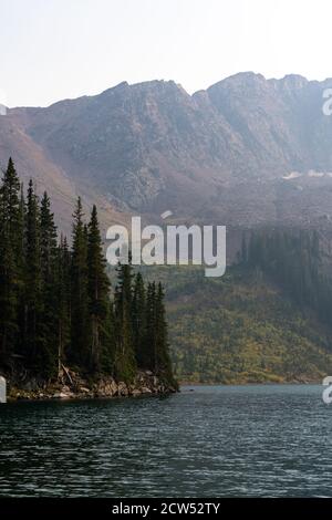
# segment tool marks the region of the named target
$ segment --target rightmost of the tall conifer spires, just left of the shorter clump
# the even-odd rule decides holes
[[[110,280],[106,274],[97,211],[93,206],[87,228],[87,298],[91,321],[90,366],[92,371],[101,368],[102,340],[106,330],[107,312],[110,312],[108,291]]]

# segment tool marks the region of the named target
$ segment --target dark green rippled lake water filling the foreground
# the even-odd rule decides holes
[[[332,497],[322,386],[0,405],[0,496]]]

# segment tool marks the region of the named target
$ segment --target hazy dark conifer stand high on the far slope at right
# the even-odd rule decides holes
[[[332,323],[332,280],[324,274],[318,231],[255,231],[243,237],[240,263],[261,269],[300,308],[311,308],[321,321]]]

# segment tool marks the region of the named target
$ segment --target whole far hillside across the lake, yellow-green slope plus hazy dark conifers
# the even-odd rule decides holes
[[[267,230],[243,241],[221,279],[193,267],[159,269],[177,376],[264,383],[330,374],[332,290],[320,250],[318,233]]]

